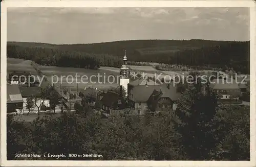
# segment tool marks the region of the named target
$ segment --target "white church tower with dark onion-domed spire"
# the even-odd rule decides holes
[[[121,70],[120,70],[120,86],[122,86],[125,91],[126,91],[126,96],[127,96],[127,88],[128,88],[128,84],[130,82],[129,79],[129,75],[130,75],[130,71],[127,65],[127,57],[126,57],[126,51],[124,51],[124,57],[123,57],[123,64],[121,66]]]

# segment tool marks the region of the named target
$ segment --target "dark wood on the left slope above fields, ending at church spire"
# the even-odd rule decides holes
[[[120,67],[122,60],[108,54],[88,54],[58,47],[7,44],[7,57],[32,60],[40,65],[97,69],[100,66]]]

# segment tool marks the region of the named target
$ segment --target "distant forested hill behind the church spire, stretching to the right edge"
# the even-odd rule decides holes
[[[233,68],[249,74],[249,41],[128,40],[92,44],[61,45],[87,53],[108,53],[129,61]],[[134,64],[134,63],[133,63]],[[200,69],[200,68],[199,68]]]

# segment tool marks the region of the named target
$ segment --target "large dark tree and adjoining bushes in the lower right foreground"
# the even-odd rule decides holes
[[[176,109],[175,129],[186,160],[249,160],[249,107],[218,105],[218,97],[190,84]]]

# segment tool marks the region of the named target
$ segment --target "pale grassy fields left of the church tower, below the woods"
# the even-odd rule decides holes
[[[30,60],[23,60],[23,59],[13,59],[7,58],[7,76],[11,71],[26,71],[30,72],[32,75],[37,77],[37,73],[35,69],[30,65]],[[107,78],[109,76],[117,76],[119,71],[111,71],[107,69],[84,69],[84,68],[66,68],[66,67],[56,67],[56,66],[42,66],[38,65],[38,68],[42,71],[42,73],[47,77],[47,80],[50,83],[54,83],[56,86],[62,87],[70,87],[73,91],[77,90],[84,90],[84,87],[95,86],[99,89],[105,89],[106,87],[117,87],[118,81],[115,78],[114,83],[108,83]],[[96,76],[101,76],[96,78]],[[77,82],[76,82],[77,76]],[[83,80],[81,80],[81,77]],[[88,77],[88,80],[86,78]],[[95,77],[91,77],[95,76]],[[105,77],[104,77],[105,76]],[[61,80],[62,77],[62,80]],[[91,82],[90,81],[91,77]],[[104,82],[103,78],[106,78],[106,82]],[[72,82],[73,80],[73,82]],[[58,81],[58,82],[57,82]],[[110,82],[113,81],[113,78],[110,78]],[[42,86],[48,84],[47,82],[43,82]]]

